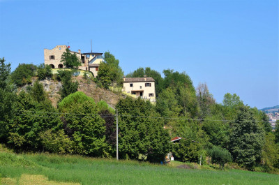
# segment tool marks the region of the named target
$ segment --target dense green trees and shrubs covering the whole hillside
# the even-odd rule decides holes
[[[105,73],[100,73],[97,82],[104,87],[121,83],[119,61],[107,52],[103,64]],[[27,74],[20,76],[20,71]],[[160,79],[157,103],[122,98],[116,104],[118,114],[104,101],[96,103],[90,92],[87,96],[77,91],[69,71],[56,75],[63,84],[58,108],[52,106],[39,82],[27,91],[15,91],[15,85],[21,87],[26,77],[38,75],[38,67],[20,64],[10,74],[10,65],[1,59],[0,72],[1,142],[16,151],[112,158],[116,156],[118,117],[121,159],[157,163],[172,152],[180,161],[218,163],[220,167],[232,161],[248,170],[278,172],[279,129],[271,131],[266,114],[243,105],[236,94],[225,94],[223,104],[216,103],[206,84],[195,89],[184,72],[167,69],[160,77],[150,68],[140,68],[131,73]],[[176,136],[183,139],[169,142]]]

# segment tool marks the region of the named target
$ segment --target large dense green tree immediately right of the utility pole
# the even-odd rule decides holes
[[[119,156],[137,159],[140,154],[151,162],[162,161],[169,151],[169,135],[153,105],[140,98],[121,99],[119,111]],[[126,115],[126,116],[124,116]]]

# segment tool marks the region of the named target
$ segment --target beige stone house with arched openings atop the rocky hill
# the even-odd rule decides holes
[[[63,52],[66,52],[66,48],[66,45],[56,45],[52,50],[44,49],[45,65],[50,65],[52,68],[64,68],[61,57]],[[71,51],[71,53],[77,54],[77,58],[80,59],[82,66],[79,66],[79,69],[91,71],[94,77],[98,75],[100,62],[103,61],[103,53],[82,53],[80,50],[78,50],[78,52]]]

